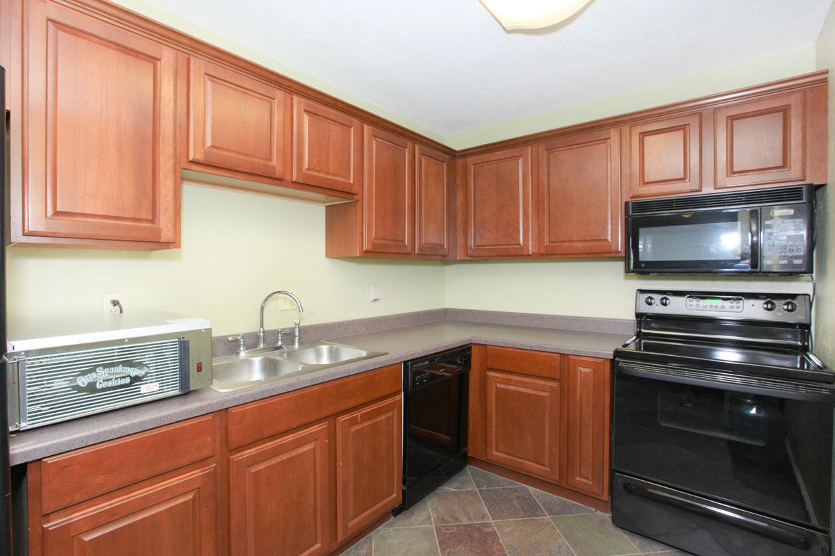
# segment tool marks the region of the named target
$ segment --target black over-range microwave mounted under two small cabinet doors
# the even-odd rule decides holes
[[[812,273],[811,184],[626,203],[628,273]]]

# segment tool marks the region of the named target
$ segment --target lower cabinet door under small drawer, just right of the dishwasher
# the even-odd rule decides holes
[[[487,372],[487,459],[559,480],[559,383]]]

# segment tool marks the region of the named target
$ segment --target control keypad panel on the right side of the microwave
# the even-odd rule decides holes
[[[805,205],[767,207],[762,210],[762,272],[803,272],[808,258]]]

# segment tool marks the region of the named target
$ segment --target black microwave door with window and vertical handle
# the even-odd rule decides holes
[[[630,273],[754,273],[759,209],[732,208],[626,218]]]

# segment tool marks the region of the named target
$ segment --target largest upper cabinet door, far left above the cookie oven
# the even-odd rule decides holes
[[[57,3],[24,3],[23,234],[175,243],[175,51]]]

